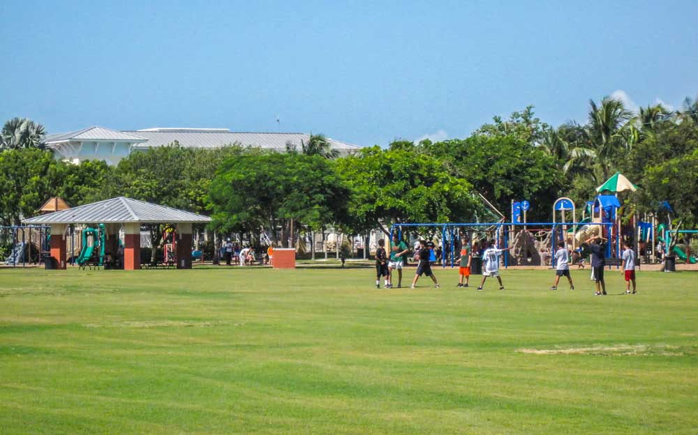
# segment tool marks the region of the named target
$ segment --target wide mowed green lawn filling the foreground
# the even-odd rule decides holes
[[[698,273],[435,271],[0,270],[0,433],[698,433]]]

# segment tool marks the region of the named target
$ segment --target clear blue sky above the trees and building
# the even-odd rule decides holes
[[[698,93],[698,1],[428,3],[5,0],[0,119],[385,146]]]

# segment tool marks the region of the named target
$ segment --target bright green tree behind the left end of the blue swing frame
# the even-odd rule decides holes
[[[348,225],[355,234],[389,234],[396,222],[468,221],[477,209],[472,185],[426,153],[373,146],[337,160],[337,169],[352,190]]]

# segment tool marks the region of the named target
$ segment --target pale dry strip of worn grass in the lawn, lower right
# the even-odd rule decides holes
[[[668,344],[595,344],[585,347],[553,347],[551,349],[517,349],[519,353],[535,355],[596,355],[596,356],[690,356],[695,346],[669,346]]]

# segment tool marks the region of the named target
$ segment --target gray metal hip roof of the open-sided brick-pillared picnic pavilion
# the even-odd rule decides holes
[[[27,224],[105,224],[105,223],[206,223],[208,216],[198,215],[177,208],[158,206],[150,202],[126,197],[116,197],[84,206],[68,208],[47,215],[24,219]]]

